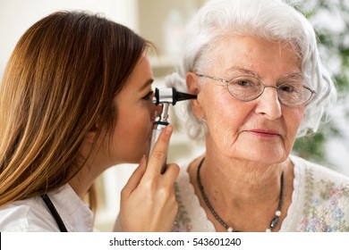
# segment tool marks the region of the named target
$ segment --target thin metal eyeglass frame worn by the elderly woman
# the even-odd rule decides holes
[[[220,78],[216,78],[216,77],[212,77],[212,76],[204,75],[204,74],[199,74],[199,73],[195,73],[195,72],[194,72],[194,74],[195,74],[196,76],[200,77],[200,78],[214,79],[214,80],[217,80],[217,81],[220,81],[220,82],[226,84],[226,88],[227,88],[227,90],[228,90],[230,96],[233,96],[233,94],[229,91],[229,83],[230,83],[233,79],[236,79],[236,78],[239,78],[239,77],[243,77],[243,76],[244,76],[244,75],[241,75],[241,76],[234,77],[234,78],[232,78],[232,79],[220,79]],[[248,76],[248,75],[246,75],[246,77],[251,77],[251,78],[254,78],[254,79],[258,79],[258,78],[254,77],[254,76]],[[282,85],[284,84],[284,83],[283,83],[283,84],[281,84],[280,86],[270,86],[270,85],[265,85],[264,82],[263,82],[261,79],[258,79],[258,80],[260,81],[261,85],[263,86],[263,89],[262,89],[262,91],[260,92],[260,95],[254,97],[253,99],[248,100],[248,101],[241,100],[241,99],[237,98],[236,96],[233,96],[233,97],[234,97],[235,99],[237,99],[237,100],[242,101],[242,102],[251,102],[251,101],[256,100],[257,98],[259,98],[261,95],[263,95],[264,90],[266,89],[266,87],[273,87],[273,88],[276,88],[276,89],[278,90],[279,87],[282,86]],[[277,94],[277,99],[279,100],[279,102],[280,102],[281,104],[284,104],[285,106],[288,106],[288,107],[299,107],[299,106],[308,104],[308,103],[311,101],[312,96],[313,96],[313,95],[316,95],[317,93],[316,93],[315,90],[311,89],[311,87],[309,87],[309,86],[306,85],[306,84],[302,84],[302,87],[305,87],[306,89],[308,89],[309,91],[311,91],[311,96],[310,96],[309,99],[308,99],[307,101],[305,101],[303,104],[297,104],[297,105],[287,105],[287,104],[284,104],[284,103],[278,98],[278,94]]]

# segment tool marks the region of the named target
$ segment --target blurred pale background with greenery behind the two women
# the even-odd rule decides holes
[[[152,41],[159,51],[151,58],[155,86],[174,71],[185,23],[206,0],[0,0],[0,79],[17,40],[34,22],[59,10],[98,12]],[[336,108],[325,117],[319,132],[298,139],[294,154],[349,176],[349,0],[294,0],[317,30],[320,53],[336,79]],[[170,122],[176,125],[174,112]],[[185,132],[176,129],[168,162],[185,162],[203,152]],[[120,191],[136,165],[122,164],[98,179],[96,227],[113,229]]]

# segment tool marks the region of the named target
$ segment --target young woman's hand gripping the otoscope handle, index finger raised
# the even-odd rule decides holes
[[[140,160],[140,166],[132,173],[121,193],[120,223],[123,231],[169,231],[174,221],[178,204],[174,196],[174,181],[179,167],[167,164],[166,151],[172,134],[168,125],[161,132],[149,155]]]

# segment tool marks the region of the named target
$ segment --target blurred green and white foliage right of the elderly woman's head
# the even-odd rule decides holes
[[[349,1],[348,0],[299,0],[297,7],[305,14],[316,29],[319,51],[336,81],[337,107],[347,105],[349,98]],[[338,109],[348,121],[346,108]],[[336,112],[338,113],[338,112]],[[346,128],[339,126],[336,119],[328,115],[323,119],[317,133],[298,138],[294,154],[313,162],[333,165],[328,161],[326,143],[328,138],[345,138]],[[336,166],[335,166],[336,167]]]

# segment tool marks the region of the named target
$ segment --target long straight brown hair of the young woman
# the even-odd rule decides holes
[[[0,86],[0,205],[72,179],[87,132],[114,128],[114,98],[148,45],[86,12],[55,12],[23,34]]]

